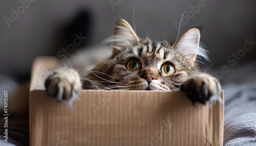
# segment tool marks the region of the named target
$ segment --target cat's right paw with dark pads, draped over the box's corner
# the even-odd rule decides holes
[[[208,74],[191,76],[183,83],[181,90],[186,92],[193,102],[205,104],[207,101],[220,101],[220,82]]]

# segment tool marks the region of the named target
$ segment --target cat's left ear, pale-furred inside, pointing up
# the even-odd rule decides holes
[[[117,55],[123,48],[132,47],[140,38],[136,35],[133,28],[124,19],[116,22],[114,35],[111,38],[113,42],[113,55]]]

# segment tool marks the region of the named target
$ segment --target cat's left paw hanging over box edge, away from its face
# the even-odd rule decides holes
[[[81,90],[81,82],[77,72],[73,69],[56,70],[45,81],[48,95],[57,101],[70,101]]]

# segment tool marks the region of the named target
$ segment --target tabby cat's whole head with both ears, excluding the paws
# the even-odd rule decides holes
[[[119,27],[121,26],[121,27]],[[196,35],[194,38],[191,37]],[[199,35],[199,36],[198,36]],[[188,31],[175,43],[152,42],[135,35],[126,21],[117,22],[111,59],[98,64],[88,78],[91,88],[177,91],[196,71],[199,31]],[[191,39],[192,38],[192,39]],[[186,42],[184,42],[186,41]],[[184,46],[186,45],[187,46]],[[193,43],[195,45],[193,45]],[[190,51],[185,51],[189,47]],[[100,82],[101,81],[101,82]]]

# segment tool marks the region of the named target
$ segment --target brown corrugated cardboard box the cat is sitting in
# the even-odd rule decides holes
[[[56,62],[34,61],[30,145],[223,144],[223,104],[193,106],[183,92],[82,90],[72,109],[57,103],[44,90]]]

